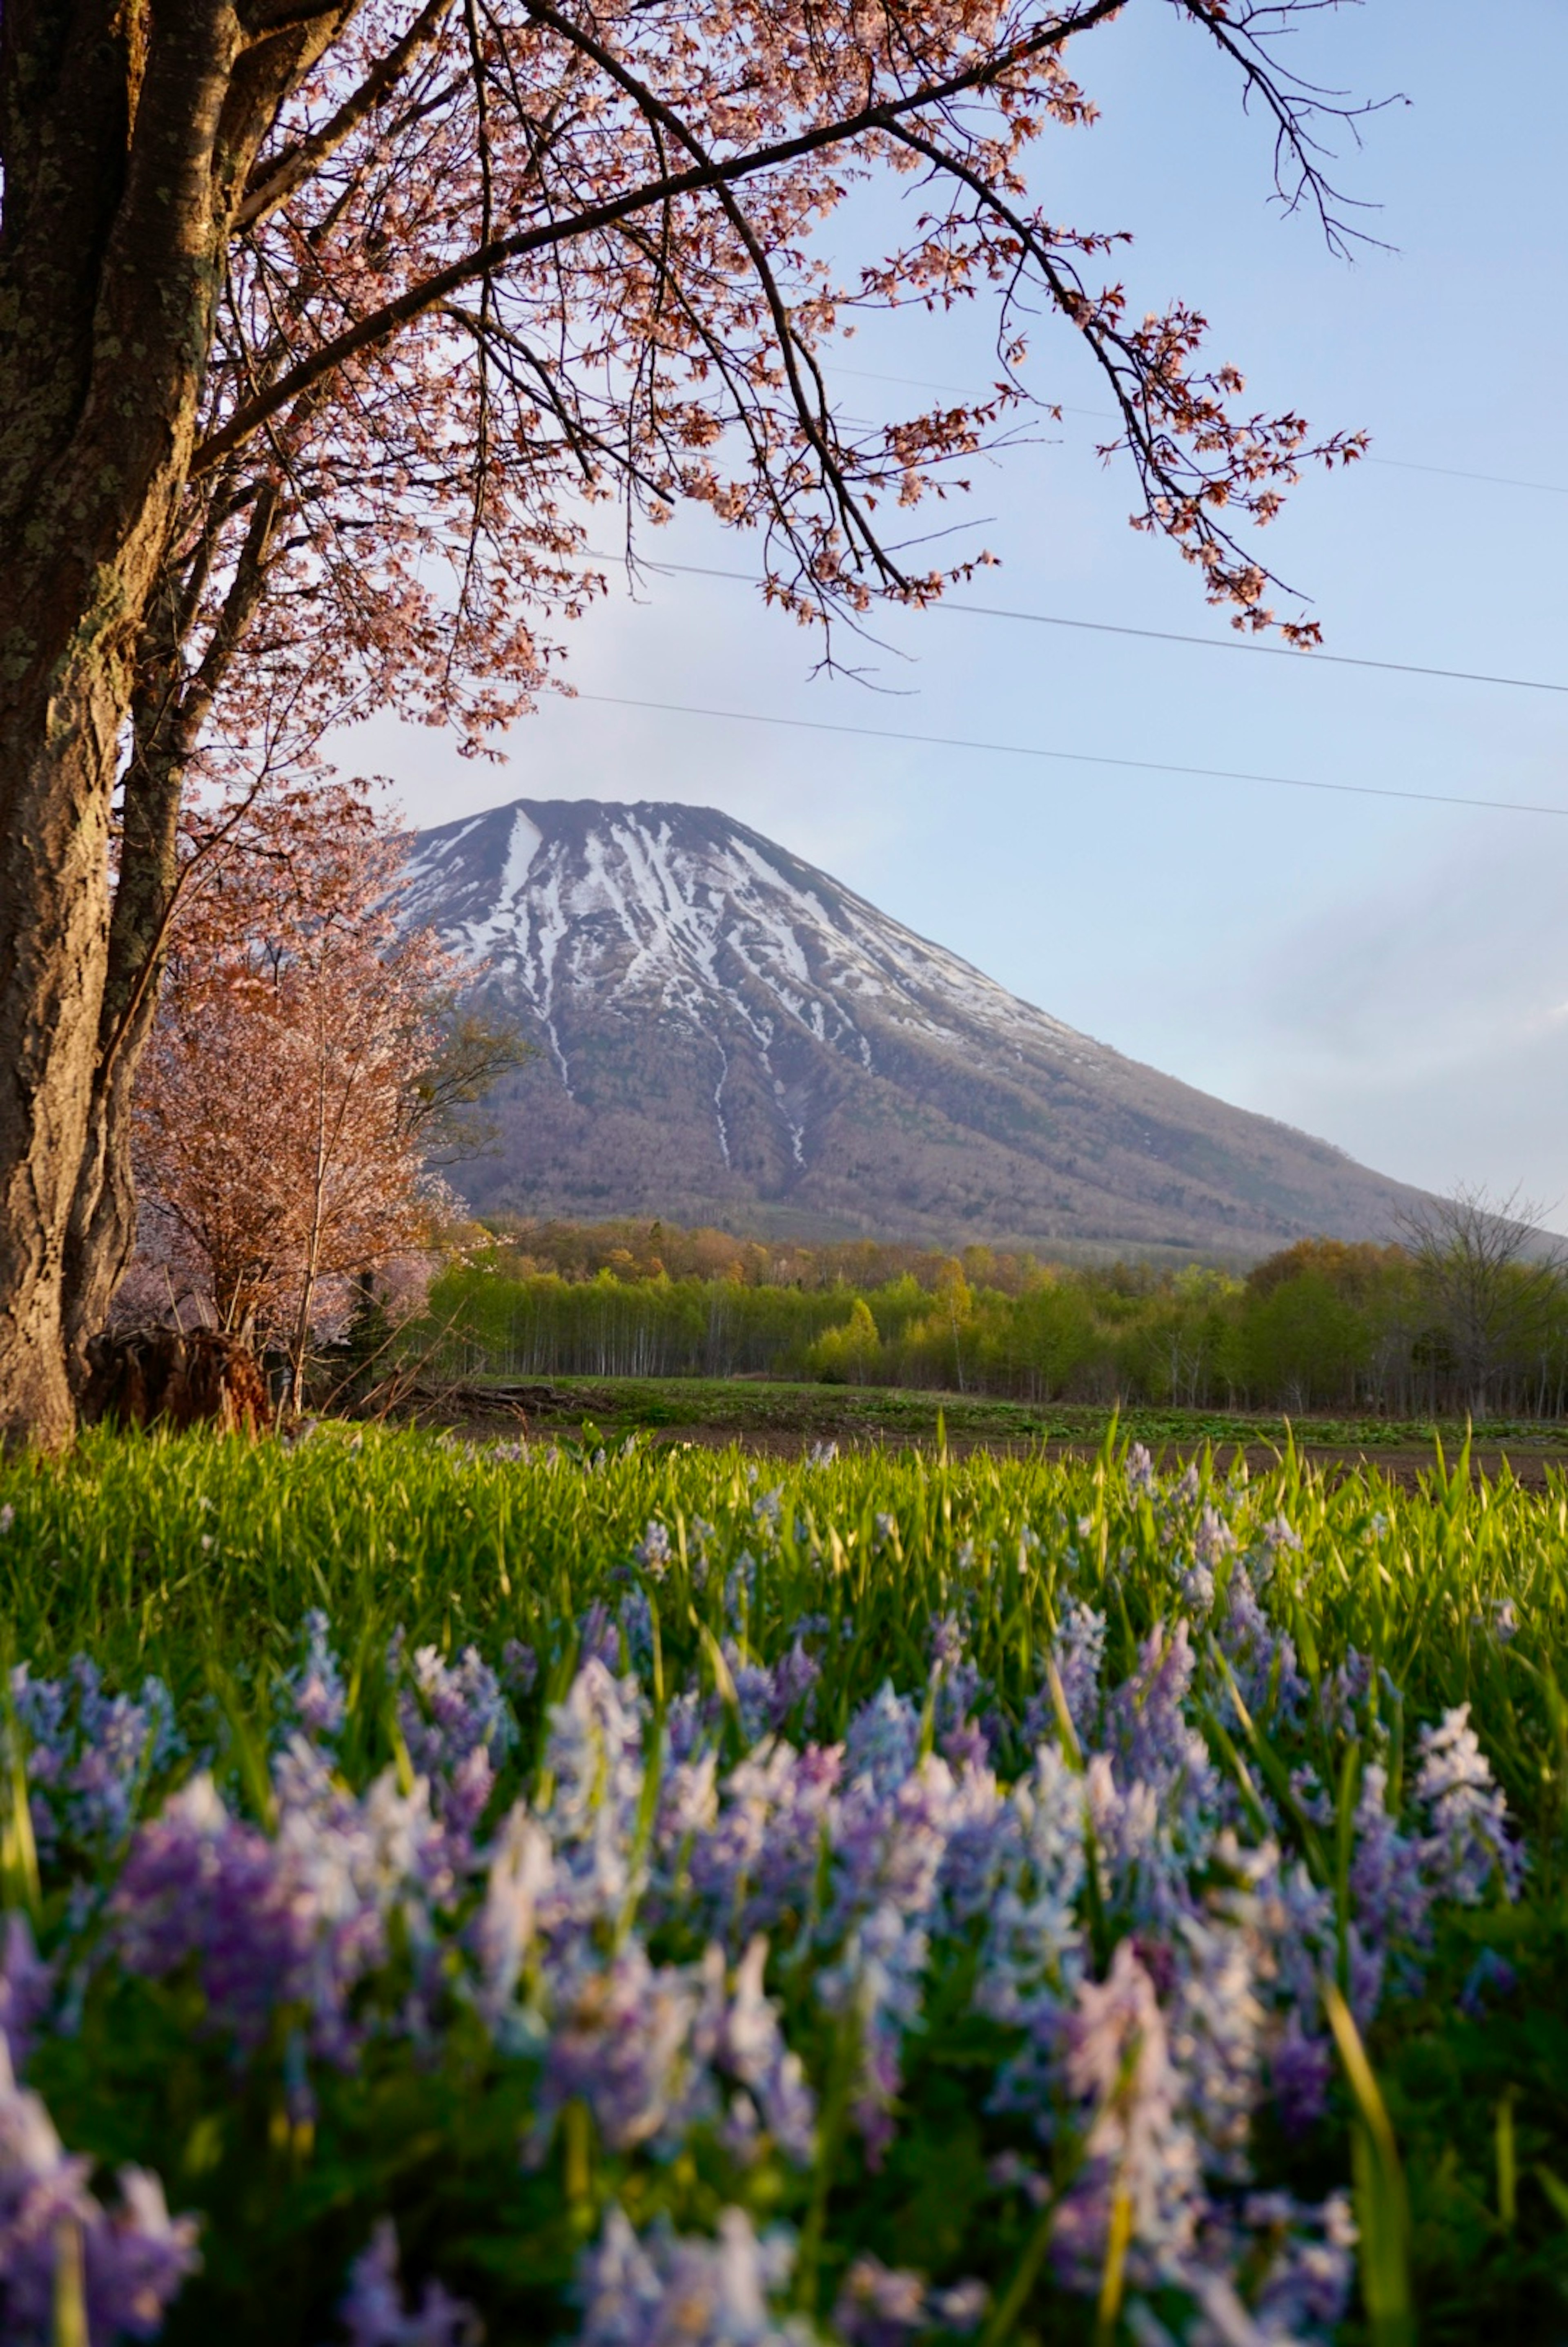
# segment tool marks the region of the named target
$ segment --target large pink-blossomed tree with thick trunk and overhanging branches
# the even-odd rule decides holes
[[[906,509],[1033,397],[1038,314],[1101,373],[1136,523],[1268,617],[1242,540],[1357,441],[1249,411],[1192,307],[1138,322],[1120,230],[1026,181],[1094,117],[1077,54],[1155,7],[1338,237],[1345,108],[1275,47],[1322,0],[2,0],[0,1441],[68,1436],[129,1256],[192,765],[282,772],[376,706],[481,744],[594,594],[613,498],[627,530],[678,500],[756,528],[798,615],[930,601],[969,566]],[[887,174],[908,232],[824,265],[822,223]],[[969,296],[991,385],[838,411],[857,312]]]

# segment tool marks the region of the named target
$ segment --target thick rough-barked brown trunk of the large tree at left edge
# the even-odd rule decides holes
[[[312,38],[246,33],[225,0],[7,0],[0,21],[0,1443],[73,1427],[117,746],[228,221]]]

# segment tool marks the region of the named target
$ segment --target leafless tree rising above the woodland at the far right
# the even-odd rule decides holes
[[[1519,1185],[1493,1197],[1486,1185],[1460,1183],[1394,1218],[1476,1418],[1493,1401],[1498,1373],[1537,1354],[1561,1286],[1566,1253],[1542,1230],[1545,1211]]]

